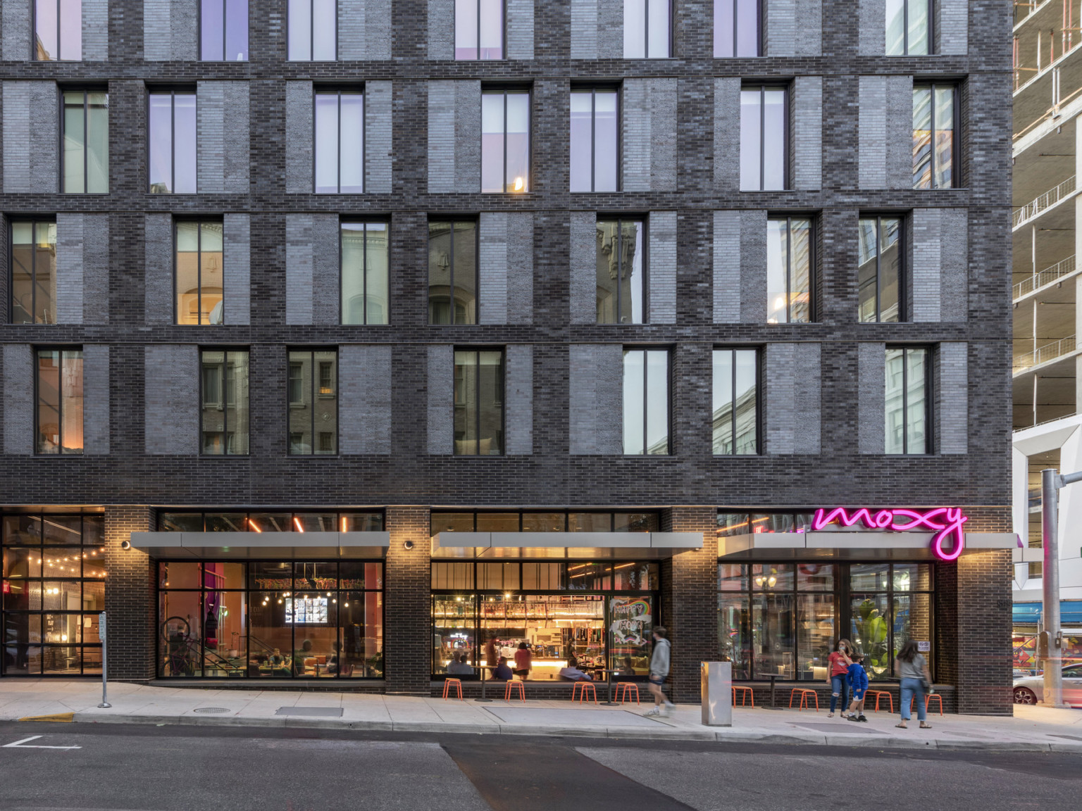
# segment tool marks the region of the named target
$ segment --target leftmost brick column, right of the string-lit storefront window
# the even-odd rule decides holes
[[[154,561],[146,553],[121,549],[132,532],[155,528],[154,509],[144,506],[105,508],[105,611],[109,678],[146,681],[155,676],[158,609],[155,606]]]

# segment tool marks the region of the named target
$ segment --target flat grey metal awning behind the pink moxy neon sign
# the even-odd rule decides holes
[[[717,556],[734,560],[938,560],[933,532],[754,532],[717,539]],[[1014,549],[1012,532],[966,532],[963,555]]]

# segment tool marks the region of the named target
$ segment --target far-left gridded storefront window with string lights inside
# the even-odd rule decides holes
[[[102,673],[102,516],[2,518],[4,676]]]

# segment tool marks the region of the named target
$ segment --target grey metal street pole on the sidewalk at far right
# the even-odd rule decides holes
[[[1082,473],[1060,476],[1055,468],[1041,470],[1041,630],[1044,644],[1044,703],[1064,704],[1063,631],[1059,628],[1059,490],[1082,481]]]

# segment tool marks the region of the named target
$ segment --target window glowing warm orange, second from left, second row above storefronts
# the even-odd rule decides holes
[[[222,255],[222,223],[176,224],[176,323],[224,323]]]

